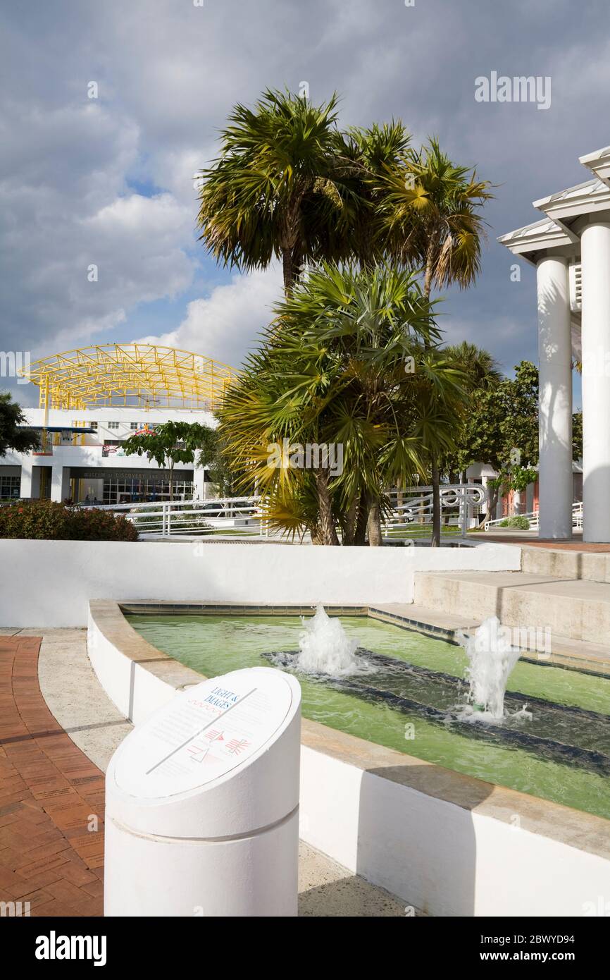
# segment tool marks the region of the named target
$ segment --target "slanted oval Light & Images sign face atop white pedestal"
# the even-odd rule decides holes
[[[117,758],[117,786],[144,799],[205,786],[256,755],[292,702],[287,675],[271,667],[196,684],[127,736]]]

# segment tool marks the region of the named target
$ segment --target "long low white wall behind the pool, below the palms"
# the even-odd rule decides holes
[[[90,599],[411,603],[416,570],[517,570],[521,551],[0,540],[0,626],[85,626]]]

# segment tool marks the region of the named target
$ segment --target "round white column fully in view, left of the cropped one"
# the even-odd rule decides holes
[[[538,263],[540,538],[572,536],[572,338],[568,260]]]

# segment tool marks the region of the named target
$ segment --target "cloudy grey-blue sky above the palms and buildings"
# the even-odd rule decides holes
[[[550,105],[478,101],[493,72],[550,78]],[[493,182],[481,274],[439,322],[536,361],[536,272],[513,281],[495,237],[610,143],[608,0],[0,0],[0,351],[147,339],[239,368],[281,274],[207,255],[193,174],[236,102],[304,82],[342,126],[399,118]]]

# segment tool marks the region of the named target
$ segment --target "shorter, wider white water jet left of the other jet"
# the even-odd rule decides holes
[[[367,663],[356,657],[357,640],[350,640],[341,620],[327,615],[318,603],[315,615],[305,621],[299,637],[299,654],[295,665],[305,673],[348,677],[360,673]]]

